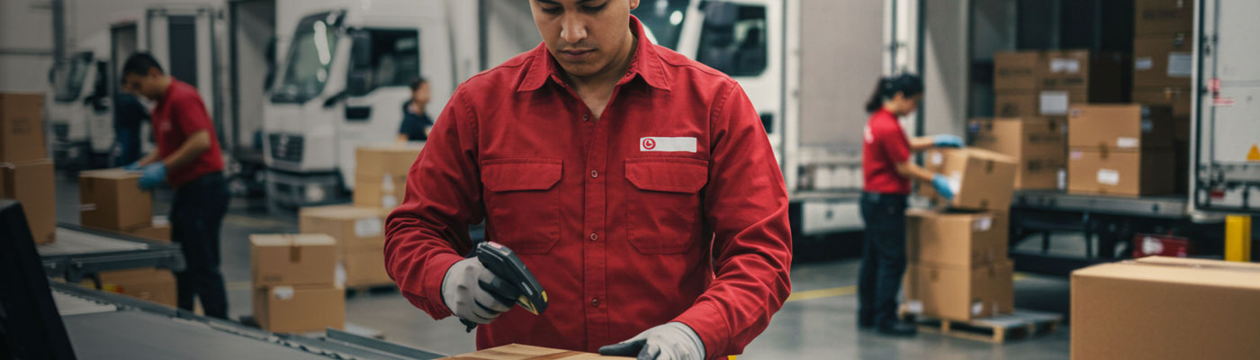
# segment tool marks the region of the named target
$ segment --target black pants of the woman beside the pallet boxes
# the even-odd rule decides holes
[[[906,195],[862,193],[866,234],[858,279],[858,321],[897,320],[897,292],[906,273]]]

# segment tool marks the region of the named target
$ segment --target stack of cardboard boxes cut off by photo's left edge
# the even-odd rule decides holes
[[[37,244],[55,240],[57,189],[44,147],[44,96],[0,93],[0,199],[21,203]]]

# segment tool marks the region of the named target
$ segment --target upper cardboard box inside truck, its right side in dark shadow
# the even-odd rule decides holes
[[[1046,52],[1040,76],[1041,89],[1066,91],[1071,103],[1121,102],[1126,96],[1128,63],[1128,57],[1121,53]]]

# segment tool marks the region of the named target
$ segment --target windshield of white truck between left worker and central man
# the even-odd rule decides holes
[[[340,38],[335,18],[335,13],[316,14],[297,24],[287,64],[271,94],[272,102],[301,103],[324,92]]]

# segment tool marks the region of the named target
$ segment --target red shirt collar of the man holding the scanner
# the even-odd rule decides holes
[[[630,29],[634,30],[635,38],[639,39],[638,47],[635,48],[634,58],[630,59],[630,67],[626,68],[625,77],[617,82],[617,84],[625,84],[634,79],[635,77],[643,78],[649,86],[669,91],[669,79],[665,74],[665,64],[656,54],[656,47],[648,40],[646,33],[643,30],[643,23],[639,18],[630,15]],[[552,57],[551,52],[547,50],[547,44],[538,44],[537,48],[530,50],[534,53],[532,57],[528,70],[525,73],[524,81],[520,82],[520,87],[517,88],[518,92],[532,92],[542,88],[547,79],[552,79],[557,84],[563,83],[561,78],[561,68],[556,63],[556,58]]]

